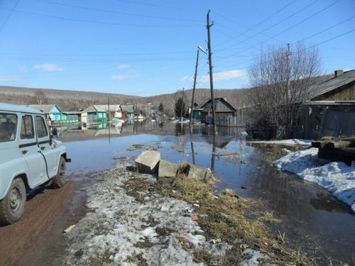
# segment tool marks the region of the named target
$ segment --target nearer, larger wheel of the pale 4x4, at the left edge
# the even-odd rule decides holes
[[[8,225],[21,219],[26,204],[26,187],[23,180],[13,179],[9,192],[0,201],[0,224]]]

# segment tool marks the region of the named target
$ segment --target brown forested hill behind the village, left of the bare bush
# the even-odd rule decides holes
[[[245,106],[246,89],[215,89],[215,97],[226,97],[234,107]],[[36,89],[24,87],[0,86],[0,101],[10,104],[58,104],[62,109],[86,108],[90,104],[144,104],[151,102],[158,109],[163,104],[167,113],[173,113],[175,101],[182,96],[182,91],[157,96],[130,96],[124,94],[107,94],[102,92],[81,92],[62,89]],[[211,96],[209,89],[196,89],[195,102],[202,104]],[[184,92],[184,101],[190,106],[192,89]]]

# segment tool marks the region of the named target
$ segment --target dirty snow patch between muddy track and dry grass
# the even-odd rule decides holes
[[[184,241],[220,264],[231,245],[206,240],[192,221],[191,204],[149,189],[139,192],[143,201],[127,193],[124,182],[133,177],[156,182],[149,174],[126,170],[128,162],[94,174],[100,182],[87,189],[89,211],[68,234],[69,254],[62,265],[203,265],[182,247]]]

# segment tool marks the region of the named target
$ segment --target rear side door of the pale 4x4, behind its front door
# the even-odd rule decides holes
[[[45,172],[45,160],[40,154],[37,140],[35,138],[35,128],[32,114],[21,116],[21,131],[18,140],[21,156],[28,166],[28,183],[31,188],[48,180]]]

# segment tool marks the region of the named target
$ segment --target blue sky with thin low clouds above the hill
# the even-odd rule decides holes
[[[261,49],[317,45],[324,73],[355,68],[354,0],[0,0],[0,85],[151,96],[192,87],[214,22],[214,87],[248,87]],[[209,87],[200,53],[197,87]]]

